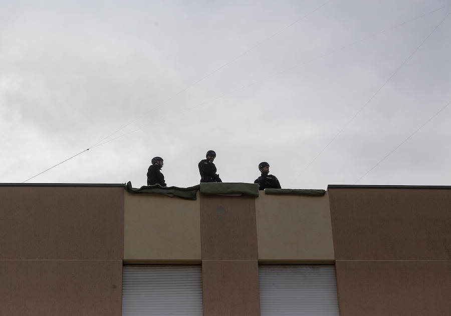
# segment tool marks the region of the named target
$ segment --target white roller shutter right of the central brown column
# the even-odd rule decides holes
[[[338,316],[333,265],[259,265],[262,316]]]

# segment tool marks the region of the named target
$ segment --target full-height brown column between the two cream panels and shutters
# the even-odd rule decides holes
[[[200,198],[204,316],[260,315],[255,198]]]

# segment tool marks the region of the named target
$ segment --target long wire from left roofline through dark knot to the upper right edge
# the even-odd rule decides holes
[[[76,154],[76,155],[74,155],[74,156],[72,156],[72,157],[70,157],[70,158],[68,158],[68,159],[66,159],[66,160],[64,160],[64,161],[62,161],[62,162],[56,164],[56,165],[54,165],[53,167],[51,167],[51,168],[49,168],[49,169],[46,169],[46,170],[44,170],[43,172],[38,173],[37,175],[35,175],[35,176],[33,176],[33,177],[31,177],[31,178],[25,180],[25,181],[22,182],[22,183],[25,183],[25,182],[27,182],[27,181],[29,181],[29,180],[31,180],[31,179],[37,177],[38,175],[43,174],[44,172],[46,172],[46,171],[48,171],[48,170],[50,170],[50,169],[52,169],[52,168],[54,168],[54,167],[56,167],[56,166],[58,166],[58,165],[64,163],[64,162],[66,162],[66,161],[68,161],[68,160],[70,160],[70,159],[72,159],[72,158],[75,158],[76,156],[78,156],[78,155],[80,155],[80,154],[82,154],[82,153],[88,151],[89,149],[93,149],[93,148],[95,148],[95,147],[99,147],[99,146],[104,145],[104,144],[106,144],[106,143],[108,143],[108,142],[110,142],[110,141],[113,141],[113,140],[115,140],[115,139],[121,138],[121,137],[126,136],[126,135],[128,135],[128,134],[134,133],[134,132],[136,132],[136,131],[139,131],[139,130],[141,130],[141,129],[143,129],[143,128],[146,128],[146,127],[148,127],[148,126],[150,126],[150,125],[153,125],[153,124],[155,124],[155,123],[158,123],[158,122],[167,120],[167,119],[169,119],[169,118],[171,118],[171,117],[174,117],[174,116],[179,115],[179,114],[181,114],[181,113],[184,113],[184,112],[187,112],[187,111],[189,111],[189,110],[192,110],[192,109],[194,109],[194,108],[196,108],[196,107],[198,107],[198,106],[201,106],[201,105],[204,105],[204,104],[206,104],[206,103],[209,103],[209,102],[212,102],[212,101],[214,101],[214,100],[217,100],[217,99],[219,99],[219,98],[228,96],[228,95],[230,95],[230,94],[233,94],[233,93],[238,92],[238,91],[240,91],[240,90],[242,90],[242,89],[248,88],[248,87],[250,87],[250,86],[252,86],[252,85],[255,85],[255,84],[257,84],[257,83],[260,83],[260,82],[262,82],[262,81],[264,81],[264,80],[267,80],[267,79],[269,79],[269,78],[275,77],[275,76],[277,76],[277,75],[280,75],[280,74],[285,73],[285,72],[287,72],[287,71],[290,71],[290,70],[292,70],[292,69],[301,67],[301,66],[303,66],[303,65],[305,65],[305,64],[308,64],[308,63],[310,63],[310,62],[313,62],[313,61],[316,61],[316,60],[318,60],[318,59],[324,58],[324,57],[329,56],[329,55],[331,55],[331,54],[333,54],[333,53],[336,53],[336,52],[341,51],[341,50],[344,50],[344,49],[346,49],[346,48],[348,48],[348,47],[351,47],[351,46],[354,46],[354,45],[359,44],[359,43],[361,43],[361,42],[364,42],[364,41],[366,41],[366,40],[369,40],[369,39],[371,39],[371,38],[373,38],[373,37],[376,37],[376,36],[378,36],[378,35],[381,35],[381,34],[383,34],[383,33],[386,33],[386,32],[388,32],[388,31],[391,31],[391,30],[393,30],[393,29],[395,29],[395,28],[398,28],[398,27],[403,26],[403,25],[405,25],[405,24],[407,24],[407,23],[413,22],[413,21],[415,21],[415,20],[418,20],[418,19],[420,19],[420,18],[423,18],[423,17],[425,17],[425,16],[427,16],[427,15],[430,15],[430,14],[435,13],[435,12],[437,12],[437,11],[443,10],[444,8],[447,8],[447,7],[450,7],[450,6],[451,6],[451,4],[450,4],[450,5],[443,6],[443,7],[441,7],[441,8],[435,9],[435,10],[432,10],[432,11],[430,11],[430,12],[428,12],[428,13],[425,13],[425,14],[423,14],[423,15],[421,15],[421,16],[418,16],[418,17],[415,17],[415,18],[410,19],[410,20],[408,20],[408,21],[405,21],[405,22],[402,22],[402,23],[400,23],[400,24],[397,24],[397,25],[395,25],[395,26],[393,26],[393,27],[390,27],[390,28],[388,28],[388,29],[385,29],[385,30],[383,30],[383,31],[381,31],[381,32],[378,32],[378,33],[376,33],[376,34],[370,35],[370,36],[368,36],[368,37],[366,37],[366,38],[363,38],[363,39],[361,39],[361,40],[358,40],[358,41],[356,41],[356,42],[353,42],[353,43],[351,43],[351,44],[348,44],[348,45],[346,45],[346,46],[343,46],[343,47],[341,47],[341,48],[338,48],[338,49],[336,49],[336,50],[330,51],[330,52],[328,52],[328,53],[326,53],[326,54],[324,54],[324,55],[321,55],[321,56],[319,56],[319,57],[316,57],[316,58],[314,58],[314,59],[311,59],[311,60],[309,60],[309,61],[306,61],[306,62],[304,62],[304,63],[302,63],[302,64],[296,65],[296,66],[291,67],[291,68],[289,68],[289,69],[285,69],[285,70],[283,70],[283,71],[281,71],[281,72],[279,72],[279,73],[277,73],[277,74],[275,74],[275,75],[269,76],[269,77],[267,77],[267,78],[264,78],[264,79],[262,79],[262,80],[259,80],[259,81],[257,81],[257,82],[254,82],[254,83],[252,83],[252,84],[249,84],[249,85],[247,85],[247,86],[244,86],[244,87],[239,88],[239,89],[237,89],[237,90],[234,90],[234,91],[232,91],[232,92],[223,94],[223,95],[221,95],[221,96],[219,96],[219,97],[213,98],[213,99],[211,99],[211,100],[208,100],[208,101],[206,101],[206,102],[203,102],[203,103],[201,103],[201,104],[198,104],[198,105],[196,105],[196,106],[193,106],[193,107],[191,107],[191,108],[189,108],[189,109],[187,109],[187,110],[184,110],[184,111],[182,111],[182,112],[175,113],[175,114],[172,115],[172,116],[163,118],[163,119],[161,119],[161,120],[159,120],[159,121],[153,122],[153,123],[151,123],[151,124],[149,124],[149,125],[146,125],[146,126],[144,126],[144,127],[141,127],[141,128],[136,129],[136,130],[133,130],[133,131],[131,131],[131,132],[129,132],[129,133],[123,134],[123,135],[121,135],[121,136],[118,136],[118,137],[116,137],[116,138],[110,139],[110,140],[105,141],[105,142],[103,142],[103,143],[97,142],[97,144],[95,144],[95,145],[89,147],[88,149],[85,149],[85,150],[83,150],[82,152],[80,152],[80,153],[78,153],[78,154]],[[114,133],[113,133],[113,134],[114,134]],[[111,134],[111,135],[113,135],[113,134]],[[111,136],[111,135],[110,135],[110,136]],[[110,137],[110,136],[108,136],[108,137]],[[108,138],[108,137],[106,137],[106,138]],[[105,140],[106,138],[104,138],[103,140]],[[302,171],[302,172],[303,172],[303,171]],[[301,173],[302,173],[302,172],[301,172]],[[300,174],[299,174],[299,175],[300,175]],[[299,177],[299,175],[298,175],[298,177]]]

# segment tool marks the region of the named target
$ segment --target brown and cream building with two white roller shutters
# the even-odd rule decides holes
[[[0,184],[0,315],[449,315],[450,189]]]

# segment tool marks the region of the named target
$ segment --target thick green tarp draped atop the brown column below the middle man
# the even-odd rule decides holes
[[[200,183],[200,194],[259,196],[259,185],[255,183],[202,182]]]

